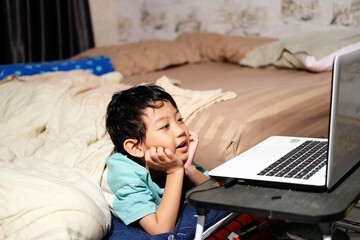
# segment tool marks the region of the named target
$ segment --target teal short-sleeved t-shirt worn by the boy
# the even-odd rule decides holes
[[[151,179],[149,171],[121,153],[107,159],[104,179],[114,194],[113,213],[126,225],[155,213],[164,189]]]

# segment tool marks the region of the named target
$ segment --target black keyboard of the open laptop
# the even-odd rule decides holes
[[[257,175],[308,179],[326,164],[327,142],[306,141]]]

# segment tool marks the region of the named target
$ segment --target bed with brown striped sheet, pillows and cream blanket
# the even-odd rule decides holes
[[[212,169],[271,135],[326,137],[332,59],[359,47],[354,31],[199,32],[1,66],[0,238],[107,235],[101,177],[113,145],[104,117],[115,91],[164,87],[199,135],[195,160]]]

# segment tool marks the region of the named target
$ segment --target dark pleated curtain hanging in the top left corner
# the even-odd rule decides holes
[[[0,0],[0,64],[69,58],[94,47],[88,0]]]

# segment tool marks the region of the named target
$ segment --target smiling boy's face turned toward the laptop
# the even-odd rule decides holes
[[[150,147],[169,148],[183,162],[188,159],[189,130],[170,102],[163,102],[160,108],[145,109],[143,119],[147,127],[142,143],[144,150]]]

